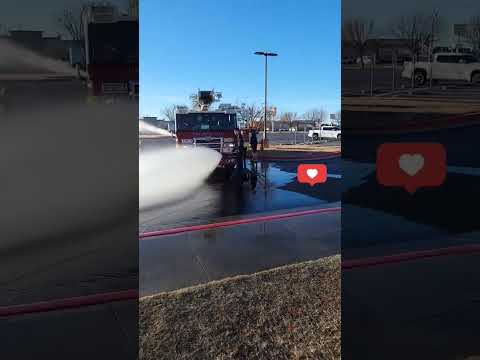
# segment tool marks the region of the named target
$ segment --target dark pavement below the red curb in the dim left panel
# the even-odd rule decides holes
[[[0,321],[2,355],[6,359],[135,359],[137,313],[138,301],[129,300],[5,318]]]

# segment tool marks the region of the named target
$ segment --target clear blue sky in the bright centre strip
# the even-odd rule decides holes
[[[268,63],[268,100],[279,112],[340,110],[339,0],[142,0],[140,115],[190,105],[198,88],[261,104],[257,50],[279,54]]]

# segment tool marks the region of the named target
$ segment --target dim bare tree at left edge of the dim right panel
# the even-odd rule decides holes
[[[342,26],[342,46],[351,46],[360,56],[362,69],[365,67],[363,57],[367,52],[368,40],[372,37],[374,21],[362,18],[348,19]]]

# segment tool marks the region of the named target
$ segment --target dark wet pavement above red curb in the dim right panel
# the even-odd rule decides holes
[[[442,186],[410,195],[378,184],[374,163],[344,160],[343,167],[344,259],[478,243],[480,225],[471,209],[480,169],[448,166]]]

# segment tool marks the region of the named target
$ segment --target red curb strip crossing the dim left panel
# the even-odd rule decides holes
[[[100,305],[110,302],[134,299],[138,299],[138,290],[136,289],[56,299],[50,301],[40,301],[32,304],[2,306],[0,307],[0,317],[73,309],[84,306]]]

